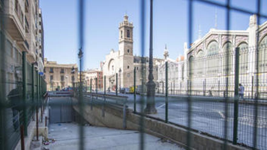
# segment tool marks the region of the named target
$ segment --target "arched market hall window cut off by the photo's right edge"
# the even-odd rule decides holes
[[[267,35],[262,39],[259,44],[259,69],[262,71],[267,70]]]

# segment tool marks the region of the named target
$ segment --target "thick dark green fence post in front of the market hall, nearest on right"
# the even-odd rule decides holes
[[[233,144],[237,143],[237,130],[238,130],[238,81],[239,81],[239,48],[235,48],[235,103],[234,103]]]

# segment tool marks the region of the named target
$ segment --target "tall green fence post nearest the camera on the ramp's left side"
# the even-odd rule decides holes
[[[22,52],[22,98],[23,98],[23,126],[24,135],[27,136],[27,108],[26,108],[26,52]]]

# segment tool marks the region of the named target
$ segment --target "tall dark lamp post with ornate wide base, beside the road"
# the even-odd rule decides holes
[[[146,114],[157,113],[157,110],[155,108],[156,84],[153,79],[153,0],[150,0],[149,74],[147,82],[147,106],[145,108]]]

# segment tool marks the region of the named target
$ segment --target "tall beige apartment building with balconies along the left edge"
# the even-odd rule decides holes
[[[0,23],[0,48],[3,49],[0,64],[4,65],[6,82],[12,83],[6,84],[7,93],[21,86],[22,52],[26,52],[27,71],[31,70],[29,65],[35,63],[35,70],[43,72],[44,51],[39,50],[43,48],[43,28],[37,25],[42,18],[39,10],[39,0],[0,1],[0,20],[3,21]]]

